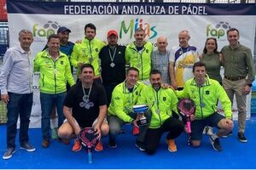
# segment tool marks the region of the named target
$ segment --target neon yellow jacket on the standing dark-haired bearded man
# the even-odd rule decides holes
[[[71,65],[78,68],[79,63],[89,63],[94,67],[95,76],[99,77],[101,75],[99,53],[105,45],[96,38],[92,40],[84,38],[81,43],[75,43],[70,58]],[[79,71],[77,73],[79,74]]]

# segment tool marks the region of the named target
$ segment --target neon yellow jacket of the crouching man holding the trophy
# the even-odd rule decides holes
[[[113,89],[108,115],[118,116],[124,122],[132,122],[133,119],[128,113],[132,111],[133,105],[136,105],[137,98],[145,86],[142,82],[137,82],[130,93],[125,82],[119,83]]]

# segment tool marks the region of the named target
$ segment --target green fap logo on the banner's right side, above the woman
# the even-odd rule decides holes
[[[225,40],[226,31],[231,28],[230,24],[225,21],[220,21],[215,26],[207,25],[207,37],[216,37],[218,40]]]

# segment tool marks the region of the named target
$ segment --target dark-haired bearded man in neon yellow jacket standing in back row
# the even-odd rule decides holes
[[[84,26],[85,37],[80,43],[75,43],[70,62],[75,68],[82,64],[93,65],[95,69],[95,81],[102,82],[100,72],[99,53],[106,46],[104,42],[96,39],[96,26],[89,23]],[[78,74],[79,75],[79,71]]]

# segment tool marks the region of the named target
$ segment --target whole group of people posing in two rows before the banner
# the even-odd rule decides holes
[[[81,150],[77,136],[82,128],[93,127],[98,134],[109,137],[108,146],[117,147],[117,135],[125,123],[133,125],[139,150],[154,154],[163,133],[168,132],[168,150],[177,151],[175,139],[187,127],[177,116],[178,99],[195,101],[191,116],[192,146],[201,144],[205,127],[217,127],[210,142],[214,150],[222,150],[219,138],[232,133],[232,103],[236,94],[238,133],[247,142],[246,95],[254,80],[251,50],[239,42],[239,31],[227,31],[229,45],[221,52],[215,38],[207,38],[203,54],[189,45],[189,31],[178,34],[179,45],[167,49],[164,36],[157,38],[157,49],[145,40],[142,28],[135,31],[135,41],[127,47],[118,44],[117,31],[108,31],[108,44],[96,38],[96,26],[84,26],[85,37],[69,42],[67,27],[48,37],[47,48],[33,59],[30,46],[32,32],[19,32],[20,45],[9,48],[4,55],[0,73],[1,99],[7,104],[7,150],[3,159],[15,153],[16,123],[20,116],[20,149],[34,151],[29,142],[28,127],[32,111],[32,75],[38,71],[42,110],[42,147],[50,145],[50,117],[53,109],[58,116],[58,138],[65,144],[74,139],[73,151]],[[130,67],[125,70],[125,65]],[[224,79],[220,67],[224,66]],[[73,79],[77,69],[77,81]],[[67,88],[69,85],[71,88]],[[218,101],[224,115],[217,112]],[[134,105],[148,105],[143,115],[133,111]],[[140,123],[141,118],[146,123]],[[103,150],[103,144],[96,145]]]

